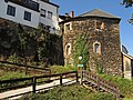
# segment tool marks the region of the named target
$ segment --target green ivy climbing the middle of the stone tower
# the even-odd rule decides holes
[[[81,63],[84,68],[89,66],[89,44],[86,34],[76,36],[76,40],[73,48],[73,64],[76,67],[79,57],[82,57]]]

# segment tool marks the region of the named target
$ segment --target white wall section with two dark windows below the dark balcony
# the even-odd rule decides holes
[[[8,4],[16,7],[16,17],[7,14]],[[27,21],[23,19],[24,11],[31,12],[31,21]],[[11,21],[24,24],[24,26],[38,28],[39,16],[40,16],[39,12],[27,9],[27,8],[21,7],[19,4],[11,3],[11,2],[7,3],[7,2],[4,2],[4,0],[1,0],[1,2],[0,2],[0,18],[4,18],[4,19],[8,19],[8,20],[11,20]]]

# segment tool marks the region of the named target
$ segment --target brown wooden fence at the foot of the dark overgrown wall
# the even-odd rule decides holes
[[[31,67],[25,64],[12,63],[8,61],[0,61],[0,69],[4,71],[20,71],[25,72],[27,74],[51,74],[50,69]]]

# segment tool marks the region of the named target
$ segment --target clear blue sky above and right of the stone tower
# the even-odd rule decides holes
[[[93,9],[101,9],[120,17],[121,44],[125,46],[129,53],[133,56],[133,24],[127,22],[133,13],[133,7],[124,8],[120,4],[122,0],[51,0],[51,2],[60,6],[60,14],[74,11],[74,16],[79,16]]]

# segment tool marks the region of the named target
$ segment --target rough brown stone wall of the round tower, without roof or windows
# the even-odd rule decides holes
[[[112,74],[122,74],[122,58],[121,58],[121,43],[120,43],[120,20],[103,19],[103,18],[81,18],[70,21],[72,30],[68,30],[63,34],[63,51],[65,62],[70,59],[71,54],[66,54],[66,44],[73,44],[75,36],[80,33],[88,34],[88,44],[90,52],[89,66],[92,71],[96,71],[95,59],[102,63],[103,72]],[[65,24],[65,23],[63,23]],[[100,42],[101,53],[94,52],[94,42]]]

